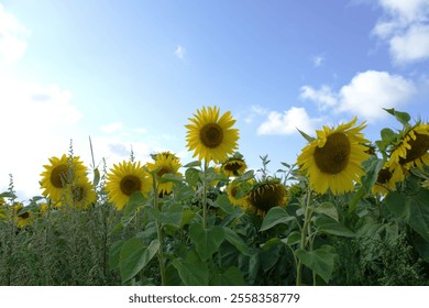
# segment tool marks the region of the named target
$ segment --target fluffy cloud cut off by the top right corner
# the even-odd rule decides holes
[[[386,41],[395,64],[429,58],[429,1],[380,0],[385,16],[375,25],[375,35]]]

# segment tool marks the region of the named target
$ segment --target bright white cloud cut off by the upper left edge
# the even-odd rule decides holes
[[[0,3],[0,61],[15,62],[26,50],[29,31]]]

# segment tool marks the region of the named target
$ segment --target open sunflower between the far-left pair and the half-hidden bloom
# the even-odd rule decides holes
[[[107,175],[106,190],[109,195],[109,202],[121,210],[134,191],[142,191],[146,195],[151,191],[152,185],[148,174],[139,163],[123,161],[122,164],[113,165]]]

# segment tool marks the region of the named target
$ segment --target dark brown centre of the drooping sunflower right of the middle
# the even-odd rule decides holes
[[[267,212],[273,207],[282,206],[285,190],[278,184],[264,184],[251,191],[249,197],[252,206]]]

